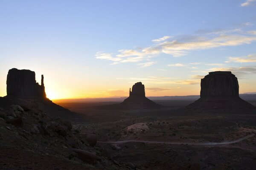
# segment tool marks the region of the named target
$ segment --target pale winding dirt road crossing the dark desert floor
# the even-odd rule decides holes
[[[123,141],[108,141],[108,142],[100,142],[99,141],[99,143],[124,144],[124,143],[128,143],[128,142],[144,142],[144,143],[154,143],[154,144],[221,145],[221,144],[233,144],[233,143],[241,142],[242,140],[251,138],[253,136],[254,136],[254,134],[250,134],[248,136],[244,136],[244,137],[236,139],[234,141],[227,141],[227,142],[186,143],[186,142],[158,142],[158,141],[123,140]]]

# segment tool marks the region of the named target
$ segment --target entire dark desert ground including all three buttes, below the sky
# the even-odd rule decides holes
[[[212,86],[210,79],[227,84]],[[255,101],[239,97],[231,72],[212,72],[201,81],[206,82],[201,98],[189,105],[186,98],[153,102],[141,82],[121,103],[56,105],[46,98],[43,76],[38,85],[35,72],[13,68],[8,95],[0,98],[0,167],[231,170],[246,164],[254,169]],[[178,108],[164,105],[168,102]]]

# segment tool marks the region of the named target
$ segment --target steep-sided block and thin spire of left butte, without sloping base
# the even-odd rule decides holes
[[[44,76],[41,85],[35,81],[35,72],[12,68],[7,75],[7,96],[11,97],[41,97],[46,98]]]

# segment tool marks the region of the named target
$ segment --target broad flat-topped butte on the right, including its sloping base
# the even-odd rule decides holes
[[[225,113],[255,111],[255,106],[239,97],[239,83],[231,71],[209,72],[201,79],[200,99],[186,108],[191,111]]]

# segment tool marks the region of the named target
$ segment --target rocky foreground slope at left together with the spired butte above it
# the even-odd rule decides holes
[[[0,97],[0,169],[130,169],[96,145],[96,135],[76,130],[73,118],[82,119],[47,99],[43,76],[38,85],[35,72],[11,69]]]

